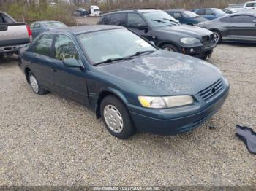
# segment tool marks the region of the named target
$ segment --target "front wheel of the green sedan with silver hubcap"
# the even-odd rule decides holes
[[[105,127],[111,135],[118,139],[128,139],[135,134],[136,129],[127,108],[115,96],[108,95],[102,100],[100,113]]]

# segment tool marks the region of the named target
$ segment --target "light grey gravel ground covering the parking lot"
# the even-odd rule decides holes
[[[230,96],[200,128],[127,141],[110,136],[85,106],[35,95],[16,58],[1,58],[0,185],[256,186],[256,156],[235,136],[236,124],[256,130],[255,52],[216,48],[209,61],[229,79]]]

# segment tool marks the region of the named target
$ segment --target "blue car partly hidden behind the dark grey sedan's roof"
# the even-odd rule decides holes
[[[192,12],[195,12],[197,15],[205,17],[208,20],[214,20],[226,14],[221,9],[217,8],[193,9]]]

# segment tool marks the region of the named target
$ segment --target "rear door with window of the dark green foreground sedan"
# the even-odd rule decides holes
[[[30,53],[30,68],[37,77],[39,83],[49,89],[52,89],[51,81],[51,64],[52,44],[54,34],[45,34],[35,42],[32,52]]]

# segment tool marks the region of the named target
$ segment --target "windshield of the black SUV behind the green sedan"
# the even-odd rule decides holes
[[[177,26],[178,20],[167,14],[166,12],[145,12],[144,16],[148,23],[154,27],[162,27],[162,26]]]

